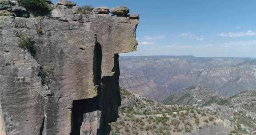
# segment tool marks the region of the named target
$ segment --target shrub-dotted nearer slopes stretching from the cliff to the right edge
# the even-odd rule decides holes
[[[200,87],[202,86],[190,89],[195,91]],[[164,105],[124,89],[121,89],[121,98],[120,118],[117,122],[111,123],[111,135],[255,135],[256,133],[256,90],[246,91],[226,100],[207,99],[200,107],[183,104],[190,103],[186,102],[186,98],[179,105]]]

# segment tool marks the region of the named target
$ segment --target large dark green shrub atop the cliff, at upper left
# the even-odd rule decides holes
[[[45,0],[18,0],[18,3],[35,15],[47,15],[52,11]]]

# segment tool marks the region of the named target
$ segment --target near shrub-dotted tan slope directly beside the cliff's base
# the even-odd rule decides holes
[[[229,135],[234,130],[216,112],[188,105],[163,105],[121,89],[122,106],[111,135]]]

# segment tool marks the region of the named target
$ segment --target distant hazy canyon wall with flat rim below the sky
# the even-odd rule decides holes
[[[120,57],[120,85],[157,101],[192,85],[206,86],[230,97],[256,88],[255,61],[194,56]]]

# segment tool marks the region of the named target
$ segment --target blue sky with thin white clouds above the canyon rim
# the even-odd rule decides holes
[[[122,56],[256,57],[256,0],[72,1],[140,14],[138,51]]]

